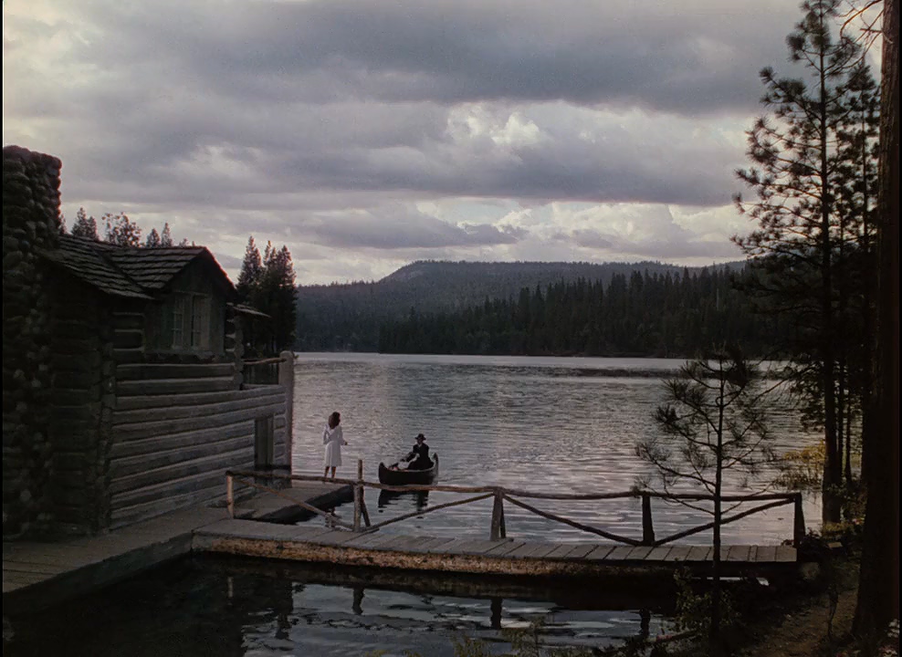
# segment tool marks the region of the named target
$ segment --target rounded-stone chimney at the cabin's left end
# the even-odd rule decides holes
[[[58,244],[55,157],[3,149],[3,536],[52,530],[50,302],[39,252]]]

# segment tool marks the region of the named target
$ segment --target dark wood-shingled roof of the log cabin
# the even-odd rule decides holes
[[[44,256],[90,286],[115,297],[153,298],[153,292],[166,287],[198,257],[209,260],[222,275],[223,285],[235,289],[204,246],[133,248],[60,235],[59,247],[45,251]]]

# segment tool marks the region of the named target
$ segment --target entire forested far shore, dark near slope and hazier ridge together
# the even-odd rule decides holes
[[[296,348],[666,358],[731,341],[766,355],[776,320],[753,314],[745,276],[741,263],[420,262],[299,287]]]

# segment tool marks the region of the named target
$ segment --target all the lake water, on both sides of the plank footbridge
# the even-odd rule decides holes
[[[443,484],[501,484],[556,492],[626,491],[644,474],[635,442],[655,431],[660,379],[678,360],[484,358],[299,354],[296,363],[296,472],[322,474],[322,427],[342,414],[346,440],[339,474],[377,480],[423,432],[441,460]],[[800,430],[788,404],[772,418],[778,451],[816,441]],[[734,483],[739,488],[739,483]],[[368,493],[376,520],[458,498],[453,494]],[[638,501],[535,506],[583,523],[641,536]],[[337,513],[351,517],[350,505]],[[653,506],[658,537],[706,517]],[[592,539],[510,505],[509,537]],[[414,517],[386,531],[488,537],[488,503]],[[820,515],[806,502],[809,522]],[[309,522],[319,522],[310,520]],[[393,529],[393,527],[397,527]],[[725,527],[727,540],[776,544],[792,536],[792,506]],[[689,540],[705,542],[698,535]],[[385,584],[379,574],[252,560],[191,558],[4,627],[9,655],[341,655],[405,650],[450,657],[466,635],[507,646],[502,628],[545,618],[543,640],[605,646],[656,635],[670,601],[659,590],[623,584],[593,590],[515,590],[507,597],[467,597],[422,579]],[[436,585],[437,586],[437,585]],[[594,585],[593,585],[594,586]],[[475,594],[474,594],[475,595]]]

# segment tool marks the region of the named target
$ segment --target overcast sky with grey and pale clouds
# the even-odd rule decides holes
[[[3,141],[63,213],[299,284],[414,260],[739,259],[758,71],[792,0],[7,0]]]

